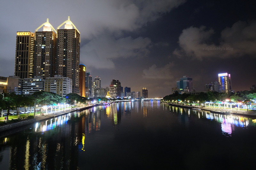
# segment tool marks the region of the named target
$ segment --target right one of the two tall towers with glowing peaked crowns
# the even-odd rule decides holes
[[[65,24],[64,29],[60,29]],[[74,27],[74,28],[73,28]],[[80,32],[68,20],[57,27],[56,75],[72,79],[72,92],[79,92]]]

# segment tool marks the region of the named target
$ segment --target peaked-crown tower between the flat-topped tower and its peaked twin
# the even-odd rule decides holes
[[[43,31],[38,31],[44,26]],[[35,32],[34,46],[34,76],[44,78],[55,75],[55,58],[56,58],[56,37],[57,32],[47,21],[39,26]]]

